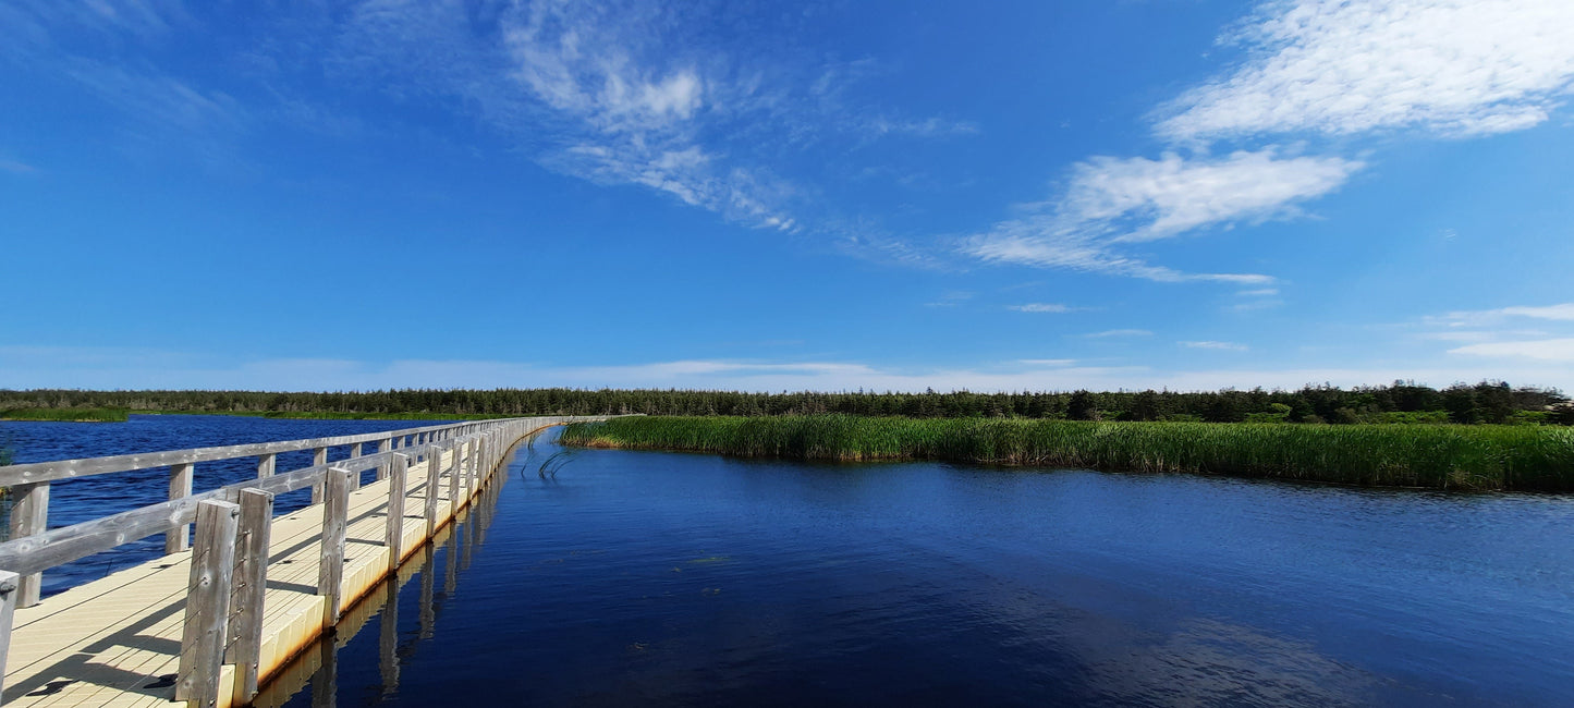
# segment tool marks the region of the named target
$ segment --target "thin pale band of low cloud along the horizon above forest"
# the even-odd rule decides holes
[[[1574,346],[1574,345],[1565,345]],[[1568,349],[1574,351],[1574,348]],[[611,367],[552,367],[499,360],[269,359],[253,362],[137,349],[0,346],[0,389],[241,389],[379,390],[494,387],[675,387],[710,390],[1217,390],[1387,384],[1429,385],[1511,376],[1516,384],[1574,387],[1566,360],[1541,368],[1451,365],[1401,368],[1236,368],[1163,371],[1151,367],[1077,367],[1059,359],[1020,368],[886,368],[859,362],[741,362],[691,359]]]

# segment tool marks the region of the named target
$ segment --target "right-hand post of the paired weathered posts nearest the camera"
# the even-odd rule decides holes
[[[274,522],[274,496],[241,489],[241,522],[235,540],[235,587],[230,592],[230,636],[224,662],[235,666],[231,705],[257,695],[263,661],[263,598],[268,590],[268,544]]]

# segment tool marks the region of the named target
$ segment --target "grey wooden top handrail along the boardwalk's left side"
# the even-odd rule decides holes
[[[535,417],[535,415],[532,415]],[[39,481],[71,480],[112,472],[129,472],[134,469],[165,467],[170,464],[211,463],[214,459],[250,458],[258,455],[277,455],[285,452],[313,450],[318,447],[356,445],[364,442],[386,441],[423,433],[438,433],[455,428],[502,423],[521,419],[466,420],[461,423],[428,425],[423,428],[390,430],[384,433],[362,433],[354,436],[310,437],[301,441],[252,442],[244,445],[198,447],[190,450],[168,450],[156,453],[112,455],[105,458],[60,459],[52,463],[24,463],[0,467],[0,486],[35,485]]]

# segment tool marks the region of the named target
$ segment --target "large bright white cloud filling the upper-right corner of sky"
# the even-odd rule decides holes
[[[1272,2],[1229,39],[1250,57],[1162,109],[1160,134],[1508,132],[1574,82],[1568,0]]]

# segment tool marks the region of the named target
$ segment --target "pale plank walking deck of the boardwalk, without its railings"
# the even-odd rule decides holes
[[[501,442],[504,448],[490,453],[483,445],[450,445],[449,452],[441,452],[441,447],[427,448],[439,455],[433,519],[427,513],[433,481],[428,474],[433,467],[425,461],[409,466],[405,474],[400,560],[422,554],[428,540],[438,537],[493,483],[496,467],[469,475],[464,474],[469,469],[466,464],[455,464],[461,461],[458,456],[472,450],[483,458],[477,463],[505,467],[505,448],[516,441]],[[343,609],[382,587],[395,565],[390,563],[386,543],[392,483],[390,475],[348,494],[343,579],[338,588]],[[324,606],[329,599],[320,592],[318,577],[323,557],[334,552],[323,543],[324,514],[332,513],[331,507],[315,503],[272,518],[258,656],[261,686],[279,678],[297,655],[324,634]],[[175,699],[176,673],[181,670],[187,598],[195,587],[192,554],[168,554],[44,598],[36,606],[17,607],[0,702],[5,706],[168,705]],[[353,615],[354,612],[345,612],[340,621],[353,621]],[[299,673],[299,669],[294,672]],[[239,691],[239,699],[233,697],[238,694],[235,681],[236,667],[225,664],[219,678],[219,699],[211,705],[246,703],[244,691]],[[268,694],[277,695],[277,691]]]

